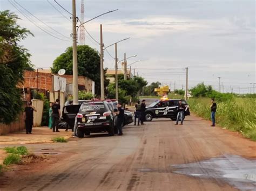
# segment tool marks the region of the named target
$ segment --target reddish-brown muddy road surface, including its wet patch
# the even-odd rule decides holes
[[[256,143],[195,116],[182,126],[158,119],[127,125],[124,136],[26,146],[57,158],[5,173],[0,190],[256,189]]]

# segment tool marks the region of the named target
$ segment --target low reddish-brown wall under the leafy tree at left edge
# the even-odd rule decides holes
[[[6,135],[11,132],[15,131],[21,131],[25,129],[25,121],[23,119],[23,114],[19,115],[19,118],[16,122],[12,122],[11,124],[2,124],[0,123],[0,136],[1,135]]]

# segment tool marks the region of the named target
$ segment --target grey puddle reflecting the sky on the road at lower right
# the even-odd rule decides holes
[[[224,154],[199,162],[171,165],[174,173],[220,179],[240,190],[256,190],[256,160]]]

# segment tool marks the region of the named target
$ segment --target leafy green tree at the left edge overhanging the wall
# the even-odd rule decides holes
[[[18,16],[0,12],[0,123],[15,121],[23,110],[18,83],[25,69],[32,69],[28,50],[18,43],[32,33],[17,25]]]

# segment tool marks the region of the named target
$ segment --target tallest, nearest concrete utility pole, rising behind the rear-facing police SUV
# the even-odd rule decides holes
[[[76,0],[72,0],[72,33],[73,33],[73,104],[78,105],[78,74],[77,74],[77,17]]]

